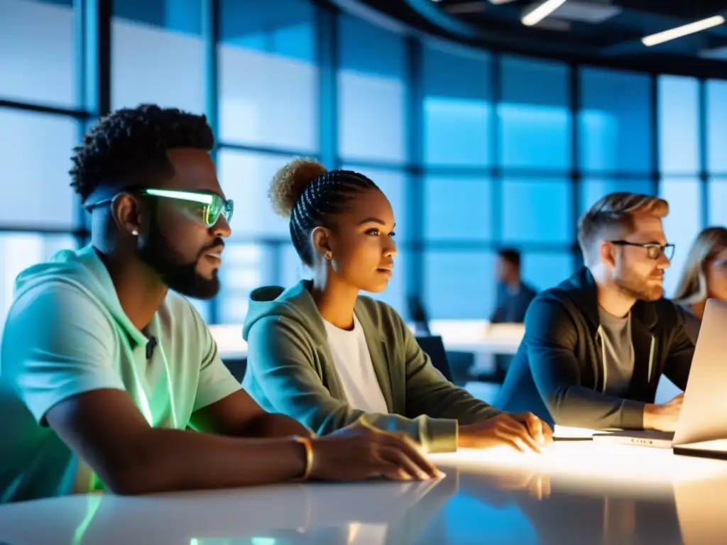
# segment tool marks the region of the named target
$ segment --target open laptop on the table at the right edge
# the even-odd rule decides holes
[[[625,429],[593,435],[594,441],[657,448],[675,453],[696,449],[695,456],[710,456],[715,440],[727,454],[727,302],[708,299],[699,328],[689,379],[676,431]],[[707,453],[697,443],[710,443]],[[720,445],[716,445],[719,447]],[[720,450],[720,448],[717,448]],[[716,456],[716,454],[714,455]]]

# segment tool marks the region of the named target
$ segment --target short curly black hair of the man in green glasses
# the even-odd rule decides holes
[[[100,185],[145,185],[149,177],[174,175],[166,153],[174,148],[212,150],[205,116],[142,104],[102,118],[73,149],[71,185],[81,202]]]

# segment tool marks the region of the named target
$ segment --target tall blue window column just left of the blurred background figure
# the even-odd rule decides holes
[[[422,259],[431,318],[484,318],[494,304],[491,57],[422,48]]]

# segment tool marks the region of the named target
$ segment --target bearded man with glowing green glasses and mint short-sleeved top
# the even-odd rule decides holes
[[[73,156],[91,244],[16,280],[0,351],[0,502],[437,474],[404,440],[266,413],[179,294],[220,282],[233,203],[204,116],[142,105]]]

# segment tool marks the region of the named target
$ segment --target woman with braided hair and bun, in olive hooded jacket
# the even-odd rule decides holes
[[[550,443],[534,415],[501,413],[447,382],[395,310],[359,295],[386,288],[396,256],[393,210],[371,179],[297,159],[273,178],[270,201],[313,280],[251,294],[244,386],[262,407],[319,434],[403,433],[430,452]]]

